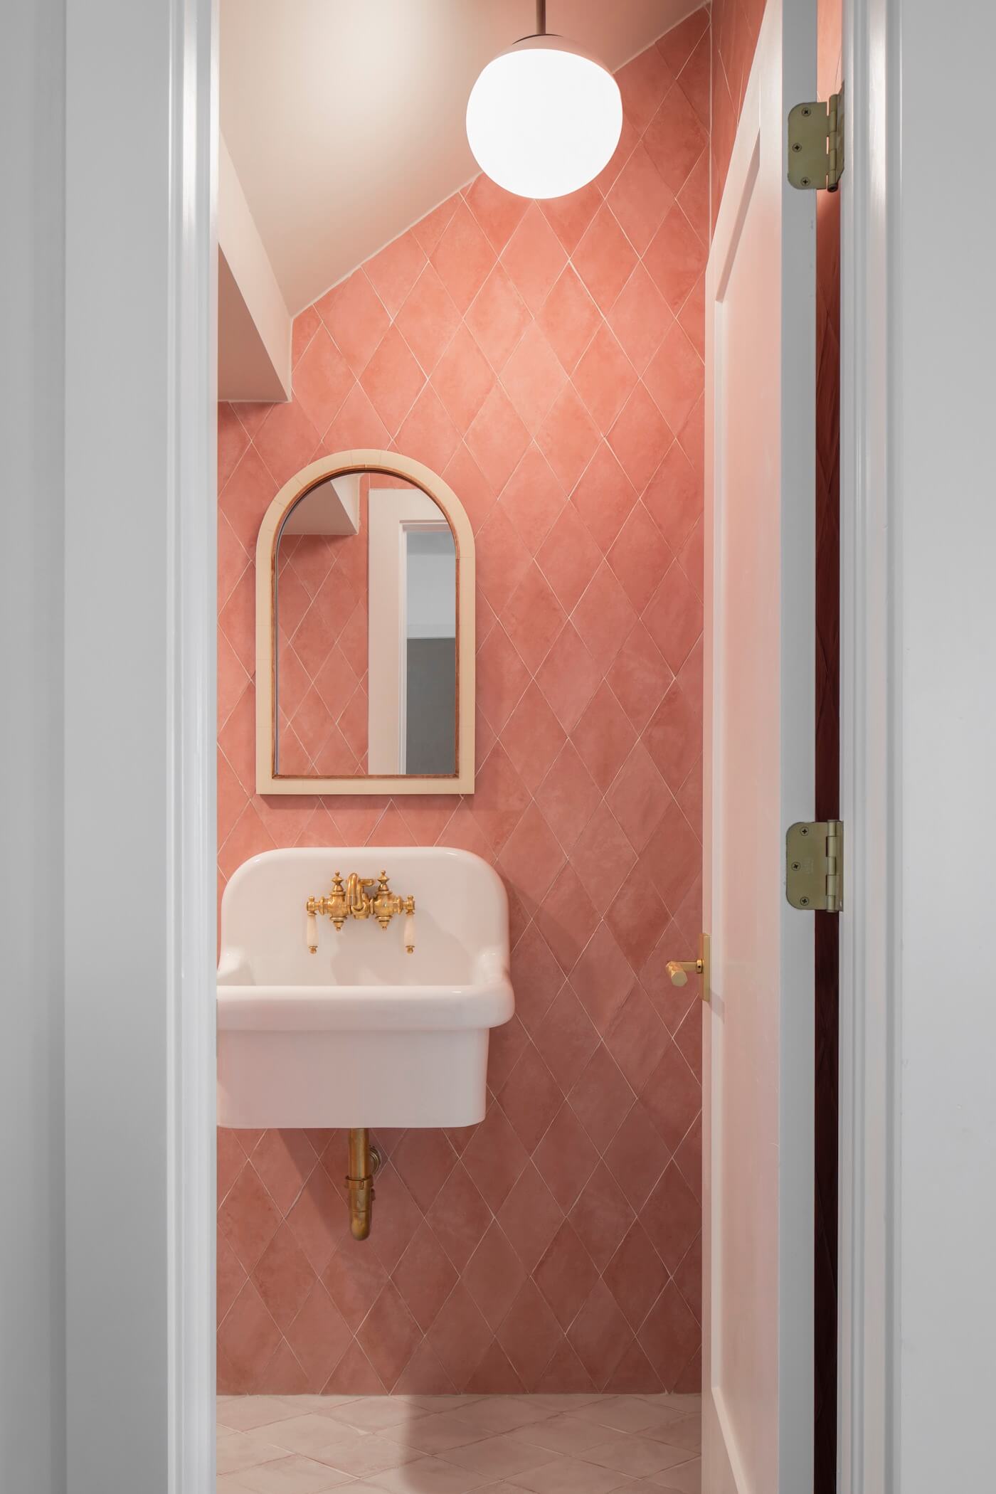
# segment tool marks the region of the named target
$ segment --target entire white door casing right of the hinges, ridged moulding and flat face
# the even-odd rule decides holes
[[[996,13],[844,13],[839,1490],[923,1494],[996,1395]]]

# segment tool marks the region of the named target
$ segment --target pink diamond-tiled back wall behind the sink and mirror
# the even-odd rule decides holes
[[[296,318],[290,403],[220,409],[220,886],[273,846],[463,846],[517,998],[481,1125],[378,1137],[363,1245],[340,1134],[218,1132],[221,1392],[699,1388],[700,1011],[664,962],[702,923],[708,12],[618,79],[591,187],[478,176]],[[473,796],[254,793],[257,529],[351,447],[470,514]],[[303,663],[326,702],[337,660]]]

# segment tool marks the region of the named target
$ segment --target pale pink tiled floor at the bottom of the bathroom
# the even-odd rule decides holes
[[[697,1395],[221,1395],[218,1494],[700,1494]]]

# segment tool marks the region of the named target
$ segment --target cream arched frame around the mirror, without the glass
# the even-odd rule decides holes
[[[420,487],[443,512],[457,551],[457,771],[293,778],[273,771],[276,750],[276,545],[285,515],[320,483],[376,471]],[[296,472],[266,511],[255,542],[255,792],[257,793],[473,793],[475,547],[467,512],[430,468],[397,451],[336,451]]]

